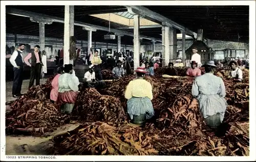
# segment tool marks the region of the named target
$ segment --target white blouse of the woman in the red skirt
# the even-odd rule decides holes
[[[58,84],[59,84],[58,92],[63,93],[66,91],[78,92],[78,85],[80,83],[79,83],[79,79],[76,76],[73,76],[70,73],[64,73],[59,76]]]

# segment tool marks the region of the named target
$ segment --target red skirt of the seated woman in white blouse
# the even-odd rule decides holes
[[[75,103],[78,92],[66,91],[58,94],[57,104]]]

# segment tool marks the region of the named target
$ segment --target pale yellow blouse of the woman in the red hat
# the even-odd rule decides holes
[[[144,79],[132,80],[126,87],[124,97],[126,99],[131,99],[132,97],[148,97],[152,100],[152,85]]]

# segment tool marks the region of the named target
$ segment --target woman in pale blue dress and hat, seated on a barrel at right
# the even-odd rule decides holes
[[[196,77],[192,86],[192,95],[198,99],[200,112],[210,127],[219,126],[226,111],[226,90],[221,77],[214,75],[217,67],[214,61],[204,65],[205,74]]]

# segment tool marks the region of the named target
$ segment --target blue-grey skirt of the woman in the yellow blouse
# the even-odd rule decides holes
[[[150,119],[155,115],[153,104],[148,97],[132,97],[127,100],[127,113],[133,120],[133,116],[146,114],[146,119]]]

